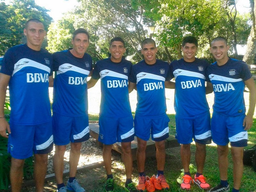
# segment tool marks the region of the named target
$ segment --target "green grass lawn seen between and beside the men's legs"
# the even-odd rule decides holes
[[[168,114],[170,118],[169,123],[169,131],[171,135],[175,135],[175,115]],[[97,115],[89,115],[90,120],[98,120]],[[256,119],[253,121],[252,128],[248,131],[249,142],[246,148],[252,147],[256,144]],[[180,175],[180,169],[182,169],[181,161],[180,161],[180,148],[170,148],[166,150],[166,163],[165,163],[165,171],[164,174],[166,176],[166,180],[170,185],[169,190],[164,191],[184,191],[180,189],[180,185],[177,183],[176,179]],[[206,147],[207,155],[204,166],[204,176],[207,178],[208,183],[211,187],[214,187],[219,184],[219,168],[218,168],[218,155],[217,155],[217,147],[215,144],[207,145]],[[233,164],[231,153],[229,151],[229,166],[228,166],[228,182],[230,185],[230,189],[233,187]],[[191,163],[196,165],[195,163],[195,144],[191,144]],[[147,158],[145,164],[146,174],[152,176],[156,174],[156,159],[155,158]],[[104,170],[103,170],[104,172]],[[124,191],[124,181],[125,181],[125,173],[124,173],[124,165],[121,161],[115,161],[113,163],[113,174],[115,177],[116,187],[115,191]],[[133,181],[137,182],[137,162],[133,162]],[[192,175],[194,177],[194,175]],[[105,177],[103,177],[100,181],[102,181],[102,185],[97,185],[94,188],[94,192],[102,191],[105,182]],[[253,171],[252,167],[244,166],[244,175],[242,179],[241,192],[256,192],[256,172]],[[230,191],[231,191],[230,190]],[[204,190],[200,190],[196,185],[193,185],[190,191],[200,192]]]

